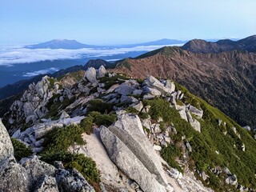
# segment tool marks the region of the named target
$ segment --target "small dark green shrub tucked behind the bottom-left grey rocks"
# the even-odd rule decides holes
[[[18,141],[16,138],[10,139],[14,146],[14,157],[17,159],[17,161],[21,160],[22,158],[29,157],[33,154],[30,147],[27,147],[24,143]]]

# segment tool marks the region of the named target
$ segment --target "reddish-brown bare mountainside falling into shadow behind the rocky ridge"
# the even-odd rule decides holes
[[[218,107],[242,126],[255,129],[256,54],[237,50],[196,54],[164,47],[119,62],[112,70],[134,78],[170,78]]]

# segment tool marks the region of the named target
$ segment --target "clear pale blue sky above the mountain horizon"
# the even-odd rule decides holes
[[[245,38],[255,10],[255,0],[0,0],[0,44]]]

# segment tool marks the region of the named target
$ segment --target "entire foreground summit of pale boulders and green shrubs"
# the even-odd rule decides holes
[[[30,84],[2,117],[0,191],[256,190],[250,127],[170,79],[76,74]]]

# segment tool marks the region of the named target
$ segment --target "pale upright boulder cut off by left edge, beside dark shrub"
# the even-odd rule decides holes
[[[10,141],[10,136],[6,130],[6,127],[2,124],[0,118],[0,164],[2,161],[14,156],[14,147]]]

